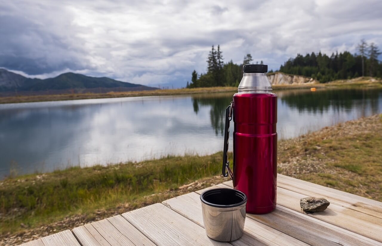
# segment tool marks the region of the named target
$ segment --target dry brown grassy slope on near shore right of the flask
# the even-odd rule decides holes
[[[382,201],[382,114],[280,141],[278,172]]]

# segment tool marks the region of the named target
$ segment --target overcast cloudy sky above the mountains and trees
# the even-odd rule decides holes
[[[0,0],[0,67],[183,87],[211,45],[269,69],[297,53],[355,53],[362,38],[382,50],[381,11],[381,0]]]

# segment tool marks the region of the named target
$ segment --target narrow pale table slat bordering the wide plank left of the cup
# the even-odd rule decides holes
[[[155,246],[152,241],[150,241],[145,235],[139,232],[137,228],[131,225],[121,215],[107,218],[107,220],[135,245]]]

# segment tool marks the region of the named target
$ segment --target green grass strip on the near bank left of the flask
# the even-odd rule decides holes
[[[220,152],[8,178],[0,186],[0,214],[6,215],[0,233],[18,230],[20,223],[36,227],[120,203],[139,207],[144,196],[219,174],[221,162]]]

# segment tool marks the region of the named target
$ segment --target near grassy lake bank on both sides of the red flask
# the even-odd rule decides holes
[[[382,114],[279,141],[278,172],[382,201],[381,150]],[[8,178],[0,182],[0,238],[5,238],[0,244],[12,235],[19,238],[12,243],[29,241],[30,235],[49,235],[227,181],[219,176],[221,162],[220,152]]]

